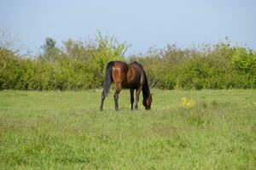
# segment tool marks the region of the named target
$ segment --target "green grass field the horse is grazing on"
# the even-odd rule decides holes
[[[152,91],[1,91],[0,168],[256,169],[256,90]]]

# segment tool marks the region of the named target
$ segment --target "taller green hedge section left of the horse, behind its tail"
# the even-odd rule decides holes
[[[43,54],[24,59],[6,48],[0,49],[0,89],[79,90],[102,86],[104,66],[110,60],[124,60],[128,47],[114,37],[99,34],[94,42],[68,40],[57,48],[46,38]]]

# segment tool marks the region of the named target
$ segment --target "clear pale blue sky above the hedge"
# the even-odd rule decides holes
[[[126,54],[176,43],[234,44],[256,49],[256,0],[0,0],[0,28],[38,51],[45,37],[62,41],[114,36],[131,44]]]

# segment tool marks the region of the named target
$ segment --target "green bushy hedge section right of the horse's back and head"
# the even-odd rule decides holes
[[[156,88],[256,88],[255,52],[228,41],[188,49],[168,45],[131,59],[144,65]]]

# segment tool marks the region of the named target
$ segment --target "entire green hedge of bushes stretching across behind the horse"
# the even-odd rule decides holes
[[[0,89],[82,90],[101,88],[110,60],[140,62],[152,88],[256,88],[256,54],[228,41],[199,48],[150,49],[123,57],[129,46],[100,33],[89,42],[46,38],[42,53],[24,57],[0,47]]]

